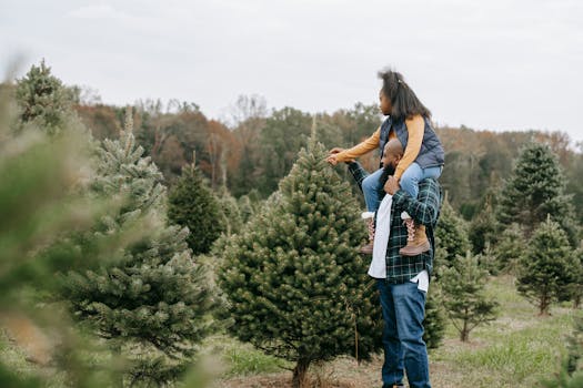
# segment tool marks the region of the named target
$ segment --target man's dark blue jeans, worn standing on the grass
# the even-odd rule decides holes
[[[431,388],[428,348],[423,341],[425,293],[416,283],[376,282],[383,312],[383,387],[403,382],[404,370],[411,388]]]

